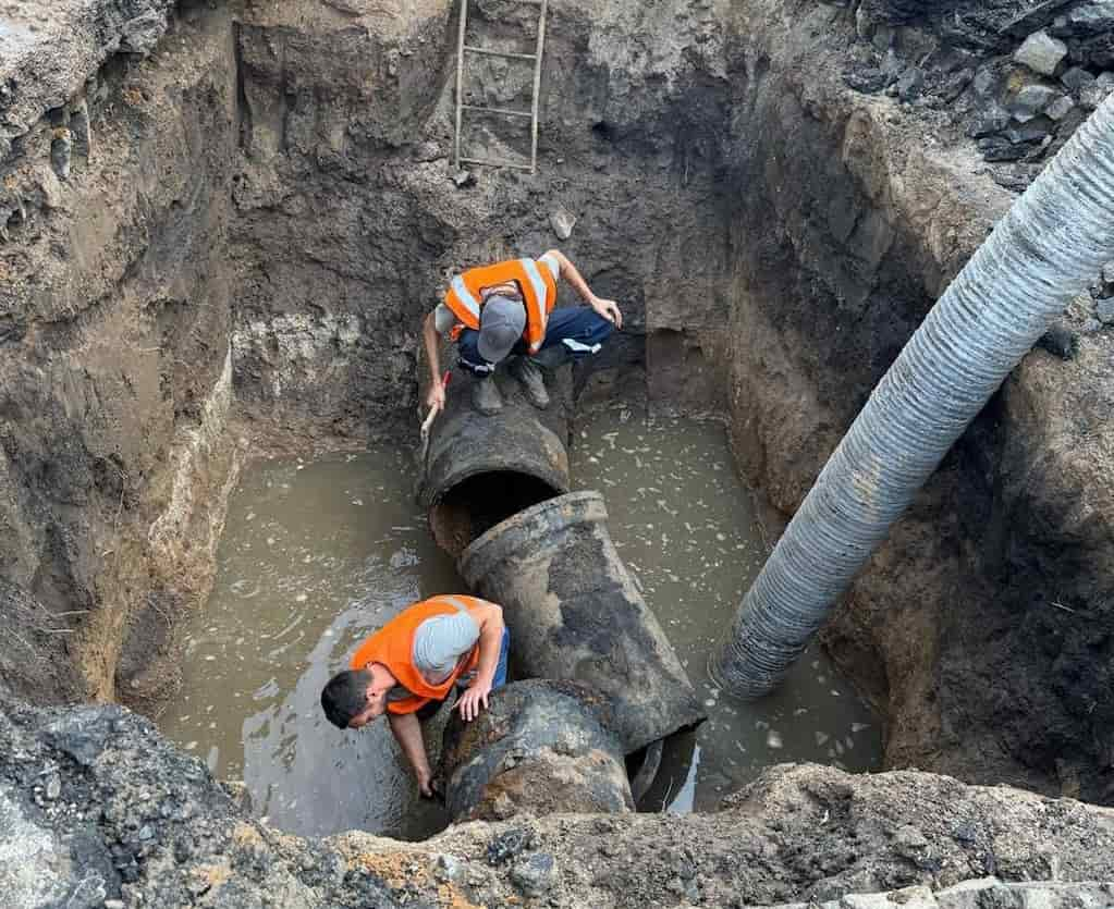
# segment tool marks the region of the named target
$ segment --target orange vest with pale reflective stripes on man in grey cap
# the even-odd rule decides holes
[[[495,265],[469,268],[452,278],[452,284],[444,294],[444,304],[452,310],[463,328],[478,330],[480,309],[483,306],[482,290],[510,281],[521,289],[526,305],[526,331],[522,332],[522,338],[526,339],[530,353],[537,353],[546,336],[546,321],[557,303],[557,282],[544,263],[532,258],[511,258]],[[461,325],[452,330],[453,341],[460,335]]]

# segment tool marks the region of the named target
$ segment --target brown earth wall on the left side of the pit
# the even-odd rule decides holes
[[[186,9],[147,57],[113,17],[154,43],[162,7],[71,7],[86,68],[12,140],[0,244],[3,681],[47,702],[145,693],[205,593],[234,451],[229,20]]]

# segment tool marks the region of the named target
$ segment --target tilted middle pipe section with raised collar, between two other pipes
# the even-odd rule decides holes
[[[516,674],[577,680],[606,694],[625,753],[705,719],[612,543],[598,492],[515,515],[472,543],[458,568],[502,606]]]

